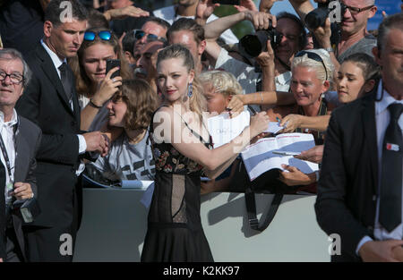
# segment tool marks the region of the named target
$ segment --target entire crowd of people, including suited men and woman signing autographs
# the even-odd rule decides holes
[[[298,16],[243,0],[221,18],[212,2],[0,4],[0,261],[73,260],[59,249],[65,234],[74,247],[83,177],[154,181],[141,261],[213,261],[201,195],[248,182],[239,155],[270,122],[312,134],[295,157],[320,170],[253,183],[317,194],[318,224],[342,239],[333,261],[403,261],[403,13],[375,38],[374,0],[340,0],[341,21],[309,31],[309,0],[289,0]],[[241,21],[258,36],[238,40]],[[215,148],[207,116],[244,111],[250,125]]]

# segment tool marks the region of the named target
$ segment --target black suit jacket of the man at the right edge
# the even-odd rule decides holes
[[[339,233],[341,256],[359,261],[358,242],[373,237],[378,196],[376,92],[332,112],[326,132],[321,177],[315,203],[317,221],[328,234]]]

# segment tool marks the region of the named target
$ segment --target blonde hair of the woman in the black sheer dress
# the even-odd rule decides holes
[[[170,58],[181,58],[187,71],[194,71],[193,56],[186,47],[175,44],[162,49],[157,58],[157,68],[161,61]],[[193,94],[192,97],[189,98],[189,106],[191,111],[196,113],[200,119],[202,119],[202,112],[206,111],[206,98],[204,98],[204,95],[202,94],[201,83],[196,75],[194,75],[193,79]]]

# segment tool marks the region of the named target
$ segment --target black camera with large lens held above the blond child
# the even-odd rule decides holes
[[[283,34],[270,27],[267,30],[257,30],[256,34],[245,35],[239,40],[239,50],[247,58],[253,58],[267,51],[267,40],[270,40],[271,48],[279,47]]]

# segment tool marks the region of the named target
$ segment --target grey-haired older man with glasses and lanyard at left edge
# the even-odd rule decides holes
[[[13,202],[37,194],[33,171],[41,132],[14,110],[29,80],[30,70],[21,53],[0,50],[0,259],[10,262],[27,260],[22,219],[12,210]]]

